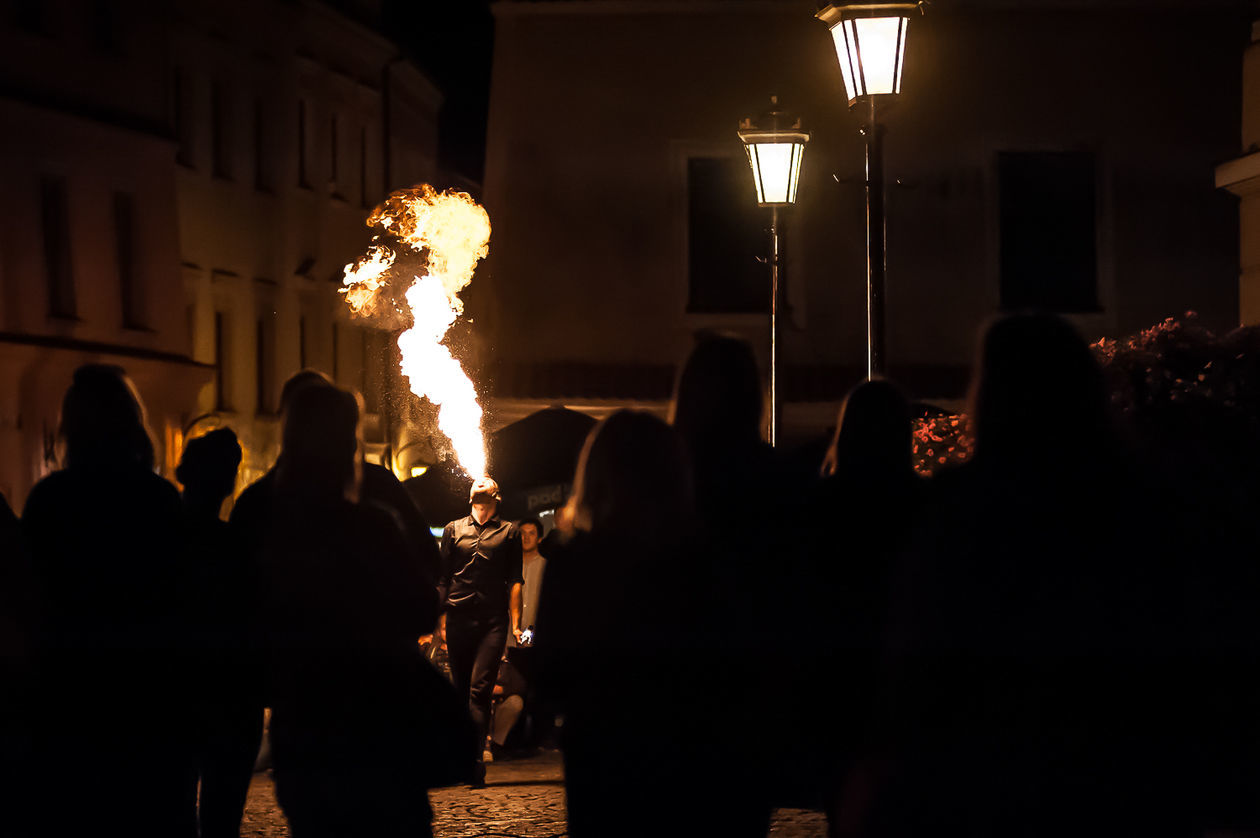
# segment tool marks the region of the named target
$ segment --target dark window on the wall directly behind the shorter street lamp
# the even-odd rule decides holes
[[[766,212],[743,160],[687,161],[688,311],[770,309],[770,271],[759,261],[770,237]]]

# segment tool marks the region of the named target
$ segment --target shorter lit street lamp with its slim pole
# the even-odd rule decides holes
[[[740,123],[740,140],[752,166],[757,205],[770,207],[770,445],[779,444],[779,208],[796,203],[796,181],[809,134],[779,108],[770,97],[770,110]]]

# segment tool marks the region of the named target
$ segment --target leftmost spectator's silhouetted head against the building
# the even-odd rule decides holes
[[[84,364],[74,370],[57,433],[66,468],[154,468],[145,407],[122,367]]]

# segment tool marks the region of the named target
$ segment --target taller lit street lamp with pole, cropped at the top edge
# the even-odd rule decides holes
[[[883,126],[877,102],[901,93],[910,16],[921,3],[829,4],[815,16],[835,40],[849,110],[864,107],[867,198],[867,378],[885,372],[885,273],[887,241],[883,214]]]

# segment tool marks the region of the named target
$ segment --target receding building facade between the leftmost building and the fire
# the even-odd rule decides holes
[[[192,354],[215,370],[198,415],[237,430],[252,480],[278,451],[280,386],[310,367],[364,394],[379,457],[398,407],[393,336],[349,320],[338,289],[372,208],[441,180],[441,93],[318,3],[189,4],[170,64]]]

